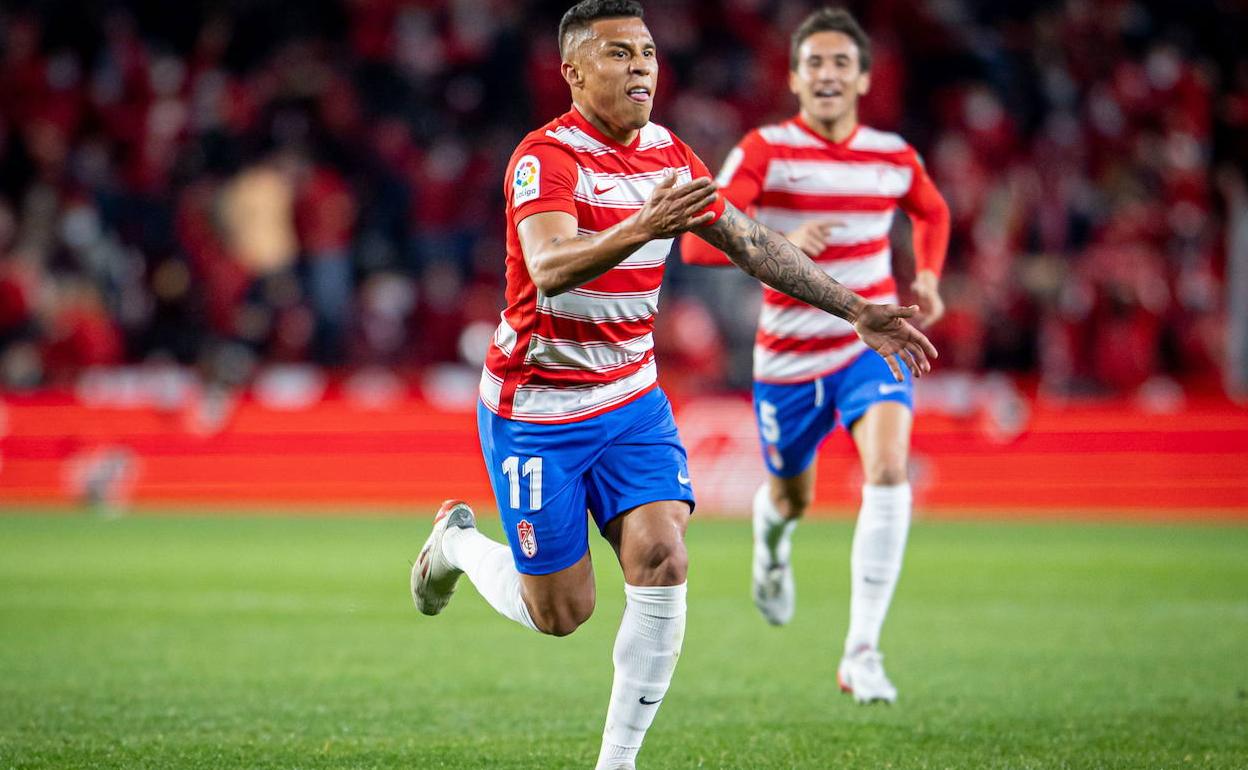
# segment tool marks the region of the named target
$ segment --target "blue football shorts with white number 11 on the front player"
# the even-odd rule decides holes
[[[504,419],[478,402],[477,429],[515,568],[545,575],[589,549],[615,517],[658,500],[694,507],[685,448],[671,404],[654,388],[589,419],[543,424]]]

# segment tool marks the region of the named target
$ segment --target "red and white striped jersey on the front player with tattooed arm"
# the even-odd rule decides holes
[[[512,155],[507,195],[507,309],[480,377],[488,409],[524,422],[574,422],[620,407],[655,387],[654,314],[671,238],[650,241],[593,281],[554,297],[534,286],[518,225],[544,211],[577,217],[594,233],[635,213],[668,173],[676,183],[710,176],[656,124],[625,147],[575,109],[533,131]],[[723,200],[711,206],[716,218]]]

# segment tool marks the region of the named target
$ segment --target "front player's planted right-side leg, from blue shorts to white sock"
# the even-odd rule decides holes
[[[588,482],[590,509],[624,572],[625,595],[598,768],[634,766],[685,636],[685,528],[693,509],[685,451],[658,391],[629,417],[631,424]]]

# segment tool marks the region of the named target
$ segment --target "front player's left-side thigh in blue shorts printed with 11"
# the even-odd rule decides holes
[[[477,427],[515,568],[549,575],[578,564],[589,549],[584,475],[602,451],[593,421],[524,423],[478,404]]]

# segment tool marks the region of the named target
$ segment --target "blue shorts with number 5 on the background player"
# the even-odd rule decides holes
[[[912,409],[914,382],[905,364],[901,371],[905,382],[892,378],[879,353],[866,351],[844,369],[810,382],[755,381],[754,418],[768,470],[784,478],[797,475],[815,461],[837,423],[852,428],[871,404],[895,401]]]

